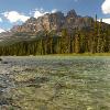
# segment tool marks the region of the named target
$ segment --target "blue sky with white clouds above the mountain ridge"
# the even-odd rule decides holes
[[[0,0],[0,30],[9,30],[21,24],[30,16],[40,16],[47,12],[75,9],[82,16],[102,18],[110,23],[110,0]]]

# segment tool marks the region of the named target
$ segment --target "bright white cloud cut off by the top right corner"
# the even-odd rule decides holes
[[[101,10],[105,14],[110,14],[110,0],[105,0],[101,6]]]

